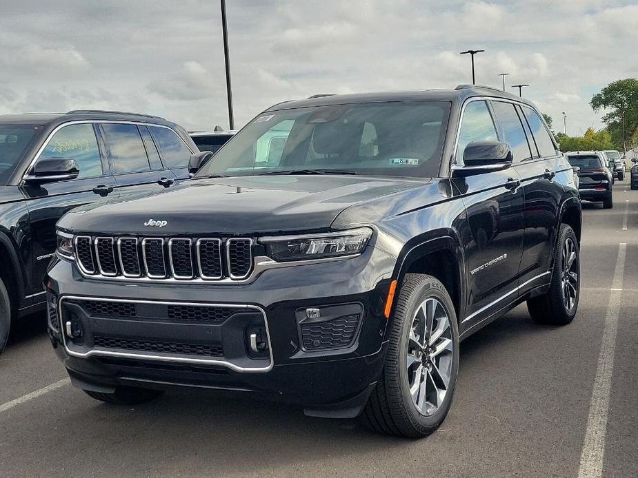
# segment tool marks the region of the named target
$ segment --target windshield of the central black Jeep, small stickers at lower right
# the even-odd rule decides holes
[[[438,176],[450,103],[361,103],[265,113],[195,176]]]

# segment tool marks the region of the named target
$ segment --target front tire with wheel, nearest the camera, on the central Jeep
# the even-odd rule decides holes
[[[422,305],[425,309],[421,308]],[[432,311],[435,313],[432,314]],[[429,342],[429,338],[425,340],[427,326],[421,330],[422,334],[417,333],[419,326],[423,327],[428,322],[423,321],[423,318],[431,318],[430,332],[433,321],[437,321],[434,328],[438,337],[433,345],[440,348],[440,353],[433,357],[433,365],[430,364],[433,349],[428,345],[425,350],[429,352],[423,352],[419,357],[419,351],[423,351],[423,343]],[[408,365],[410,357],[413,362]],[[361,414],[363,423],[368,428],[387,435],[410,438],[430,435],[450,410],[458,370],[459,329],[448,291],[432,276],[406,275],[391,317],[386,362],[377,386]],[[438,381],[436,385],[434,380]],[[410,386],[415,390],[414,399]],[[435,399],[437,391],[443,389],[445,393],[438,402]]]

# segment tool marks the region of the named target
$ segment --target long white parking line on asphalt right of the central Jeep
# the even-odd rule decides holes
[[[603,341],[598,355],[598,366],[592,391],[592,402],[589,407],[587,428],[583,450],[580,457],[578,478],[600,478],[603,474],[603,458],[605,454],[605,435],[609,413],[609,397],[611,379],[614,368],[614,351],[618,330],[618,313],[622,295],[623,276],[625,272],[625,255],[627,245],[618,247],[618,258],[612,289],[609,293],[607,316],[603,329]]]

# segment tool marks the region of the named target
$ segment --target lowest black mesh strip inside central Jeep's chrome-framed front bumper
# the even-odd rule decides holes
[[[94,335],[93,344],[103,349],[223,357],[223,348],[220,344],[159,342],[157,340],[124,339],[121,337],[110,337],[108,335]]]

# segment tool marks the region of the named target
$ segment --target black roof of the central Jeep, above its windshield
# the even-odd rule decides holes
[[[290,108],[344,105],[348,103],[375,103],[384,101],[464,101],[470,96],[492,96],[521,101],[532,105],[524,98],[514,94],[497,90],[496,88],[480,85],[459,85],[454,90],[415,90],[399,92],[355,93],[312,95],[302,100],[284,101],[273,105],[266,111],[288,110]]]

